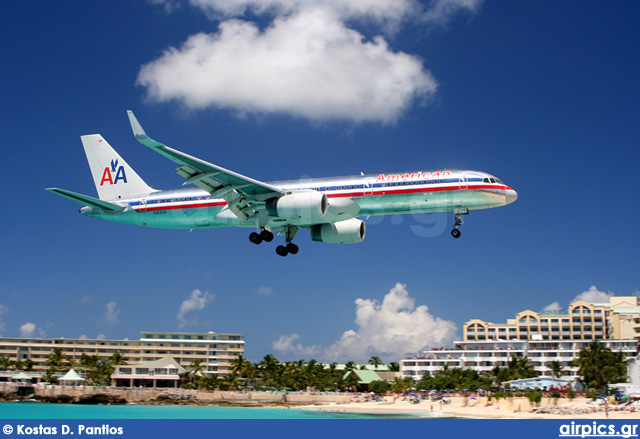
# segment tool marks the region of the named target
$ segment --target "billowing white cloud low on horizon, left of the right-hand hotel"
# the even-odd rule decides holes
[[[272,347],[287,354],[316,354],[324,361],[366,361],[379,356],[395,361],[406,353],[425,346],[450,345],[456,336],[456,325],[449,320],[434,317],[426,305],[415,305],[407,287],[397,283],[382,302],[375,299],[357,299],[357,329],[349,329],[326,349],[305,347],[296,343],[297,334],[281,336]]]

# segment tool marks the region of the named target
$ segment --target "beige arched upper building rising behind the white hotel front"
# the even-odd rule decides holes
[[[463,331],[464,341],[628,340],[640,337],[640,306],[635,296],[613,296],[609,303],[579,300],[566,311],[522,311],[507,323],[469,320]]]

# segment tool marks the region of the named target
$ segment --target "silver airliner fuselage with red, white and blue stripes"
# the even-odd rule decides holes
[[[517,199],[517,193],[492,175],[478,171],[444,170],[393,174],[370,174],[271,182],[286,192],[317,191],[326,194],[329,207],[316,224],[333,223],[358,216],[488,209]],[[278,228],[295,219],[261,214],[240,221],[223,199],[211,199],[199,188],[153,191],[120,199],[124,211],[107,213],[84,207],[81,213],[109,221],[147,227],[195,229],[209,227]],[[308,221],[300,221],[307,227]]]

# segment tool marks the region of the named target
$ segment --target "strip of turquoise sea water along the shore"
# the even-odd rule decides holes
[[[322,412],[291,408],[217,407],[181,405],[78,405],[40,402],[2,402],[0,419],[415,419],[416,415]]]

